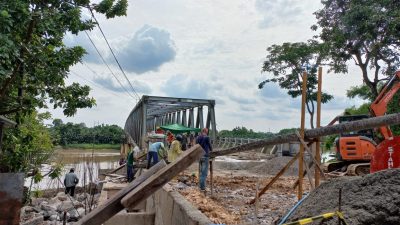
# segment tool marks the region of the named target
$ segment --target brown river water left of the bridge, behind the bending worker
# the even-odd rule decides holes
[[[32,185],[32,190],[44,190],[51,188],[63,188],[61,182],[64,181],[64,176],[71,168],[75,169],[75,174],[79,178],[78,186],[83,186],[89,182],[95,182],[99,177],[100,169],[114,169],[119,166],[120,158],[119,150],[80,150],[80,149],[60,149],[56,150],[53,157],[53,162],[64,165],[60,179],[50,179],[48,176]],[[50,170],[48,164],[42,165],[42,174]],[[25,179],[25,186],[29,187],[30,179]]]

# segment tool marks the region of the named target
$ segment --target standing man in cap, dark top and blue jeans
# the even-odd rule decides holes
[[[204,149],[204,154],[200,158],[200,162],[199,162],[199,168],[200,168],[199,185],[200,185],[201,191],[206,190],[206,179],[207,179],[207,175],[208,175],[208,161],[209,161],[210,151],[212,151],[210,138],[207,136],[207,134],[208,134],[208,129],[203,128],[201,130],[201,134],[196,139],[196,143],[201,145],[201,147]]]

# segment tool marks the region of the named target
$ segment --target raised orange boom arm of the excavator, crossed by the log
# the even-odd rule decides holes
[[[370,106],[370,111],[372,116],[383,116],[387,111],[387,105],[390,100],[392,100],[393,96],[400,89],[400,71],[397,71],[390,80],[385,84],[378,97],[372,102]],[[391,139],[393,138],[393,133],[389,127],[383,126],[379,128],[379,131],[385,138]]]

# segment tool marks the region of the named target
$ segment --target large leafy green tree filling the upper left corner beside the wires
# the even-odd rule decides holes
[[[37,108],[63,108],[72,116],[92,107],[87,85],[67,85],[69,68],[85,54],[66,47],[66,33],[78,34],[95,26],[82,10],[107,18],[126,15],[127,0],[13,0],[0,3],[0,115],[29,114]],[[17,116],[17,121],[19,116]]]

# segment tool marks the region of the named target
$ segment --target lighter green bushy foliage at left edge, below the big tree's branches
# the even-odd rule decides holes
[[[0,152],[0,172],[36,171],[53,153],[50,134],[43,124],[49,114],[32,112],[22,118],[16,129],[6,129],[2,152]],[[38,174],[38,173],[36,173]],[[40,174],[35,179],[40,179]]]

